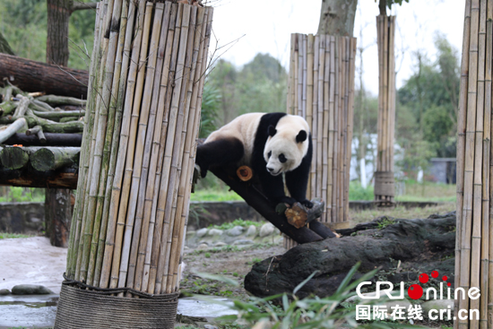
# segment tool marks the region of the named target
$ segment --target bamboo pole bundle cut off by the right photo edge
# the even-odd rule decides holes
[[[459,310],[477,309],[480,319],[457,317],[454,328],[493,327],[493,167],[491,166],[491,65],[493,1],[466,0],[459,116],[457,119],[457,229],[455,299]],[[480,299],[467,291],[480,289]]]

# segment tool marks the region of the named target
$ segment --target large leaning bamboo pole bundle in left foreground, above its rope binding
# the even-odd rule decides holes
[[[69,278],[178,289],[211,27],[196,3],[99,3]]]

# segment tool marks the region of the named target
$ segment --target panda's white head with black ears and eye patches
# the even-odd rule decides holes
[[[297,169],[308,150],[308,125],[302,117],[282,117],[278,125],[269,126],[264,147],[265,169],[278,176]]]

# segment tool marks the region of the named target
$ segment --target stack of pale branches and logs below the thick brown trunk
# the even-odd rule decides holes
[[[8,82],[1,94],[0,184],[75,188],[85,100],[27,93]]]

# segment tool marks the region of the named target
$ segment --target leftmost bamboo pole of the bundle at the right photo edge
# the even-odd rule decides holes
[[[454,287],[459,287],[461,273],[461,247],[462,247],[462,230],[463,230],[463,168],[464,168],[464,152],[465,152],[465,122],[467,108],[467,91],[469,82],[469,39],[471,30],[471,0],[466,0],[465,3],[465,18],[463,29],[463,56],[461,64],[461,85],[459,91],[459,113],[457,117],[457,202],[456,216],[458,232],[455,237],[455,280]],[[454,314],[459,311],[459,301],[454,300]],[[454,321],[454,328],[458,328],[458,321]]]

